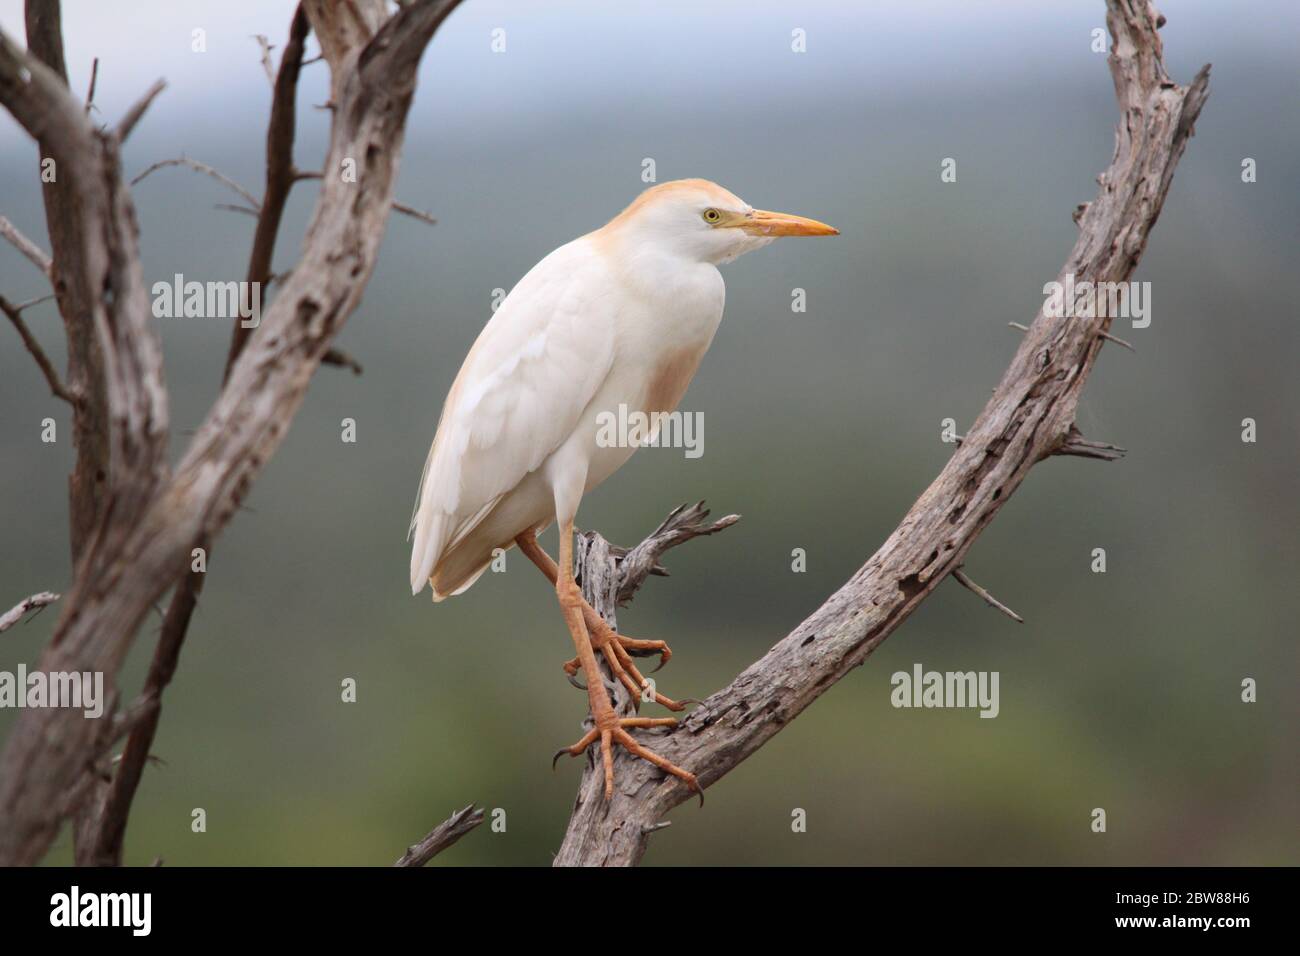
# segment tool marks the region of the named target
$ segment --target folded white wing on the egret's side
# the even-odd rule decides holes
[[[412,593],[572,434],[612,364],[614,281],[599,252],[576,239],[534,265],[480,333],[420,479]]]

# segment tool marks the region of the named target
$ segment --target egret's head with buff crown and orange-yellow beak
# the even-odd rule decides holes
[[[840,234],[835,226],[814,219],[755,209],[708,179],[675,179],[651,186],[606,229],[714,264],[729,263],[781,235]]]

